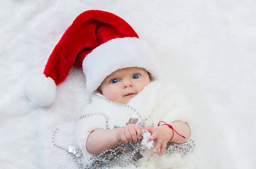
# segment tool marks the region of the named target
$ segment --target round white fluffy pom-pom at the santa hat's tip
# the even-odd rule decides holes
[[[29,99],[39,105],[48,106],[54,99],[56,94],[55,82],[44,74],[36,74],[29,77],[26,84],[26,95]]]

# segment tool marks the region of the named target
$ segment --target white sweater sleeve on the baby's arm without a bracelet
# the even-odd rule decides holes
[[[102,114],[88,114],[81,118],[76,129],[76,145],[79,146],[84,156],[92,155],[86,149],[87,138],[95,129],[107,129],[106,117]]]

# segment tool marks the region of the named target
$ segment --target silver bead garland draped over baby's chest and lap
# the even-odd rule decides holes
[[[130,105],[113,102],[113,101],[108,100],[107,98],[101,97],[99,95],[92,95],[90,97],[89,103],[91,103],[92,97],[104,99],[104,100],[108,101],[109,103],[113,103],[113,104],[120,105],[120,106],[126,106],[126,107],[134,110],[134,112],[136,112],[137,115],[140,117],[140,122],[138,122],[137,125],[139,125],[141,127],[145,127],[146,121],[151,120],[149,118],[145,119],[145,120],[143,118],[141,118],[140,113],[137,112],[137,110],[134,109],[133,107],[131,107]],[[88,114],[82,115],[80,117],[80,120],[83,119],[84,117],[93,116],[93,115],[103,115],[104,117],[106,117],[106,125],[105,125],[104,129],[109,129],[108,117],[107,117],[107,115],[105,115],[103,113],[101,113],[101,114],[100,113],[88,113]],[[154,127],[153,123],[152,123],[152,127]],[[142,152],[145,151],[145,149],[146,149],[145,146],[143,146],[143,144],[142,144],[142,140],[143,140],[143,137],[142,137],[141,139],[138,139],[138,142],[136,144],[135,143],[125,144],[121,141],[121,143],[119,143],[119,146],[117,146],[113,149],[105,150],[104,152],[102,152],[99,155],[93,155],[90,157],[90,159],[86,160],[85,157],[83,156],[83,153],[81,152],[81,149],[79,149],[78,146],[70,145],[68,149],[65,149],[65,147],[57,145],[54,140],[56,131],[58,131],[58,128],[52,134],[53,145],[58,148],[64,149],[68,153],[70,153],[71,156],[73,157],[76,165],[82,169],[109,169],[111,166],[126,167],[131,164],[134,164],[136,167],[139,167],[141,164],[140,158],[143,158]],[[145,131],[143,129],[143,132],[147,132],[147,131]],[[190,152],[192,152],[194,147],[195,147],[194,141],[192,141],[191,139],[188,142],[181,143],[181,144],[168,142],[164,154],[172,155],[174,153],[180,153],[180,155],[183,156],[183,155],[186,155],[186,154],[189,154]]]

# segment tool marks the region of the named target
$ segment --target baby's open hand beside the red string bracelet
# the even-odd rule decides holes
[[[170,128],[166,125],[163,125],[155,128],[152,128],[151,126],[146,126],[143,129],[148,130],[148,132],[151,133],[151,136],[148,138],[148,142],[152,140],[157,141],[153,152],[157,153],[158,149],[161,147],[159,156],[162,157],[168,141],[172,138],[172,131],[170,130]]]

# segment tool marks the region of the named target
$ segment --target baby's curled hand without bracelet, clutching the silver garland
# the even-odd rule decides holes
[[[142,137],[142,129],[140,126],[136,124],[128,124],[127,126],[123,127],[121,130],[116,132],[116,138],[118,141],[121,140],[124,143],[133,142],[137,143],[138,138],[141,139]]]

